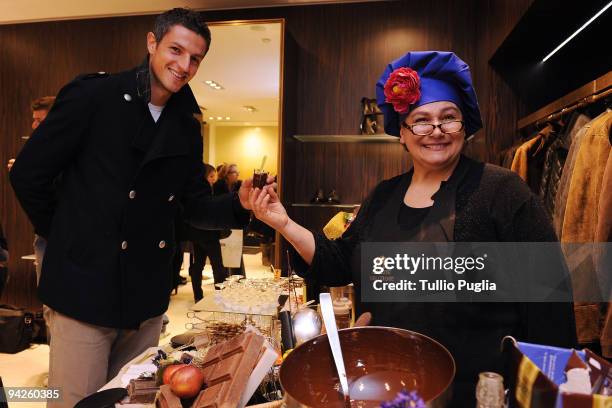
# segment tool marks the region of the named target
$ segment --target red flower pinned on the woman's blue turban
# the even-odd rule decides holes
[[[419,74],[408,67],[398,68],[385,83],[385,102],[398,113],[408,113],[410,105],[421,99]]]

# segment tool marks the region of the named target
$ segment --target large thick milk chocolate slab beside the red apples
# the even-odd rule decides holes
[[[263,344],[263,336],[246,332],[211,347],[203,362],[208,388],[200,392],[193,408],[236,408]]]

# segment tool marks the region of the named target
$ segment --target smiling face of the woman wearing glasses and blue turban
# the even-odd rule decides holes
[[[404,119],[400,143],[406,146],[416,165],[432,170],[443,169],[454,163],[461,154],[465,128],[456,122],[461,120],[463,115],[453,102],[440,101],[419,106]],[[429,135],[415,134],[427,133],[431,129],[427,128],[427,124],[443,124],[446,132],[453,132],[443,133],[438,126]]]

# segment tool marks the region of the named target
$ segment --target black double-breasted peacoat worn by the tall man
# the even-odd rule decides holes
[[[40,299],[106,327],[137,328],[167,310],[179,206],[200,227],[249,220],[235,193],[207,194],[189,86],[156,123],[143,72],[148,78],[146,63],[66,85],[10,174],[35,231],[48,238]]]

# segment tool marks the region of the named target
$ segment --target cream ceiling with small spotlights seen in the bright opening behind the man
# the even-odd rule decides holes
[[[198,104],[205,108],[204,120],[277,122],[281,23],[211,25],[210,31],[210,51],[189,83]],[[224,89],[213,89],[205,84],[207,80]],[[244,106],[257,111],[249,112]]]

